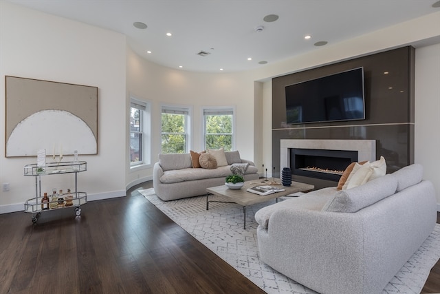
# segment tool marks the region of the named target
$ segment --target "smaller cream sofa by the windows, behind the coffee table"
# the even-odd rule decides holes
[[[239,151],[224,152],[228,165],[216,169],[193,168],[190,154],[159,154],[153,167],[153,187],[164,201],[206,194],[206,188],[223,185],[234,163],[248,163],[245,180],[259,178],[254,162],[240,158]]]

